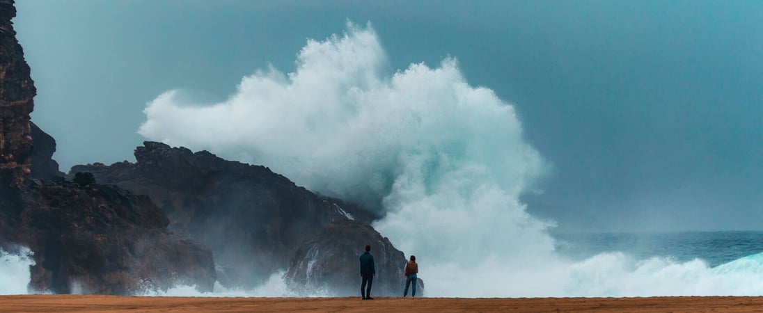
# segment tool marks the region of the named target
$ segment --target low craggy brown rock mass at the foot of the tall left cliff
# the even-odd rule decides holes
[[[147,196],[114,186],[28,183],[6,214],[0,244],[34,252],[38,291],[129,295],[175,283],[211,291],[211,251],[169,232]]]

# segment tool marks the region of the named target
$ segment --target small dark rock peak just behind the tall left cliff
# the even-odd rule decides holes
[[[32,160],[31,173],[29,177],[40,180],[52,180],[53,177],[63,177],[63,173],[58,170],[58,162],[53,160],[53,152],[56,152],[56,139],[43,132],[32,122]]]

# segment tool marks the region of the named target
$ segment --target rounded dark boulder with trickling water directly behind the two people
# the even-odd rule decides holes
[[[376,268],[371,295],[402,295],[406,263],[403,253],[370,225],[349,220],[330,223],[320,235],[300,246],[285,276],[288,286],[304,295],[326,292],[359,296],[359,257],[365,244],[371,245]],[[423,295],[423,283],[417,295]]]

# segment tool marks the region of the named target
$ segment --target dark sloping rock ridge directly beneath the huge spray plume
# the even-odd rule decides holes
[[[224,286],[257,286],[285,270],[299,245],[329,222],[375,216],[339,200],[317,196],[263,166],[225,161],[159,142],[127,161],[78,165],[101,184],[146,194],[166,212],[170,228],[210,247]],[[71,176],[69,176],[71,177]]]

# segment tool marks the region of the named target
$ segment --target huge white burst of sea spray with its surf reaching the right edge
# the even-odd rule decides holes
[[[701,260],[562,260],[552,222],[519,201],[548,165],[523,140],[511,104],[468,85],[453,58],[391,75],[385,64],[372,27],[349,24],[342,36],[308,40],[294,72],[256,72],[226,101],[198,106],[181,91],[160,94],[139,133],[265,164],[378,210],[375,228],[417,256],[427,295],[763,294],[758,273]]]

